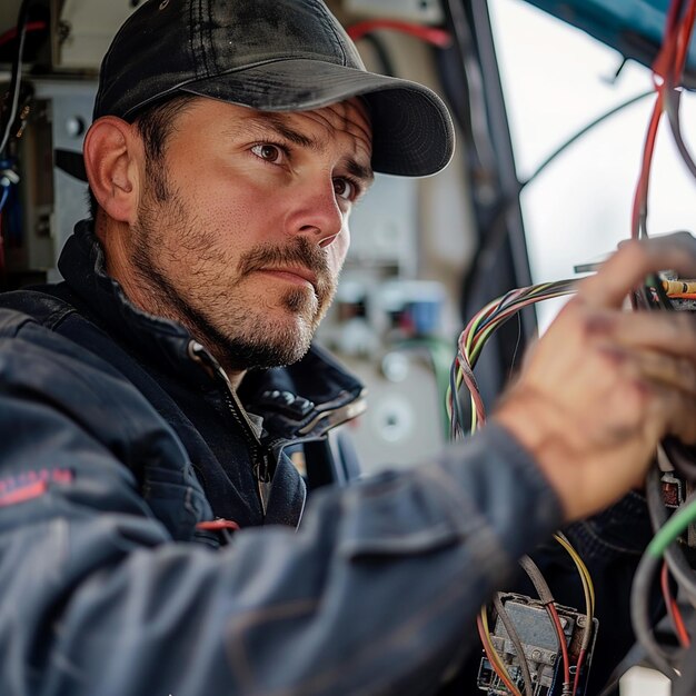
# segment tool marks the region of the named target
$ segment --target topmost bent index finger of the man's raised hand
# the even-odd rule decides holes
[[[696,277],[696,239],[688,232],[622,243],[596,275],[578,285],[577,299],[594,307],[618,308],[648,274],[667,269]]]

